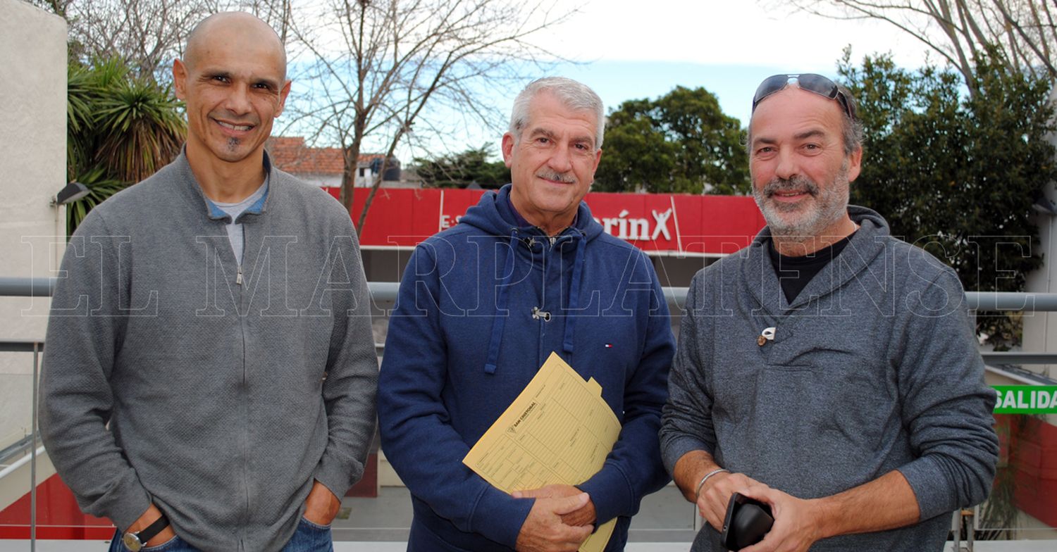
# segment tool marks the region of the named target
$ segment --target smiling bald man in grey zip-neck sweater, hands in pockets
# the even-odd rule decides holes
[[[111,550],[332,550],[374,435],[349,213],[272,167],[278,36],[214,15],[173,62],[181,155],[96,207],[52,302],[41,434]],[[156,547],[156,548],[154,548]]]

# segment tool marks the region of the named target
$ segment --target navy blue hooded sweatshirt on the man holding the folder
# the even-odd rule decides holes
[[[411,550],[509,550],[532,509],[462,463],[552,351],[593,377],[623,430],[578,486],[623,550],[643,496],[668,477],[657,442],[674,340],[649,259],[580,203],[554,239],[518,227],[511,186],[415,248],[378,383],[382,448],[412,495]]]

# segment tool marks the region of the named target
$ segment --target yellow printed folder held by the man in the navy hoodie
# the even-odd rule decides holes
[[[601,385],[583,381],[552,353],[463,463],[505,493],[579,484],[601,470],[619,435]],[[601,552],[615,526],[616,519],[599,526],[580,552]]]

